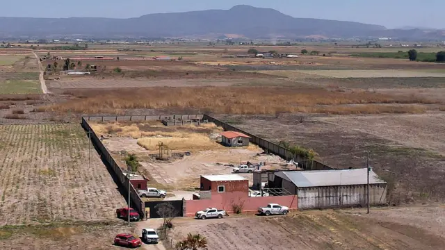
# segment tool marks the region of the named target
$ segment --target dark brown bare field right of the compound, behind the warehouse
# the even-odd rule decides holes
[[[266,140],[314,149],[319,161],[340,169],[366,166],[370,151],[373,169],[389,183],[390,203],[445,199],[444,113],[219,118]]]

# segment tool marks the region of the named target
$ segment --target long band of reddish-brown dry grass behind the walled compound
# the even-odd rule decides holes
[[[194,108],[227,114],[275,113],[419,113],[415,106],[369,106],[364,104],[430,104],[435,101],[366,91],[336,92],[318,88],[200,87],[144,88],[72,92],[80,99],[39,110],[76,113],[121,113],[124,109]],[[360,104],[357,107],[345,105]],[[330,106],[330,107],[326,107]]]

